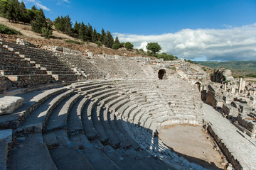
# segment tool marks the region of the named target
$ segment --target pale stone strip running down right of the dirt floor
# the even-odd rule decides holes
[[[255,140],[243,137],[228,119],[215,111],[211,106],[203,104],[206,113],[204,120],[210,123],[216,135],[225,144],[225,147],[233,155],[233,159],[239,162],[242,169],[256,169],[256,145]],[[238,168],[238,167],[237,167]]]

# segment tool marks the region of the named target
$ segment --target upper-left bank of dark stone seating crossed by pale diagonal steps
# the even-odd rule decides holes
[[[79,79],[53,52],[6,41],[0,45],[0,73],[18,88]]]

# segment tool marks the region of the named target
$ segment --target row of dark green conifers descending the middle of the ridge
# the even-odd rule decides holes
[[[99,46],[105,45],[106,47],[113,48],[114,50],[120,47],[126,47],[127,49],[132,49],[134,45],[131,42],[119,42],[118,37],[113,38],[109,30],[107,32],[102,28],[101,33],[97,33],[96,28],[93,28],[90,23],[85,25],[85,23],[78,23],[75,21],[75,25],[72,28],[72,22],[69,15],[58,16],[53,21],[55,29],[60,30],[65,34],[79,38],[82,41],[94,42]]]

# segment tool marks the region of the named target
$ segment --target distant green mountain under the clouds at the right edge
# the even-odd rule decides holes
[[[233,75],[256,74],[256,61],[232,61],[232,62],[197,62],[203,66],[217,69],[224,67],[230,69]]]

